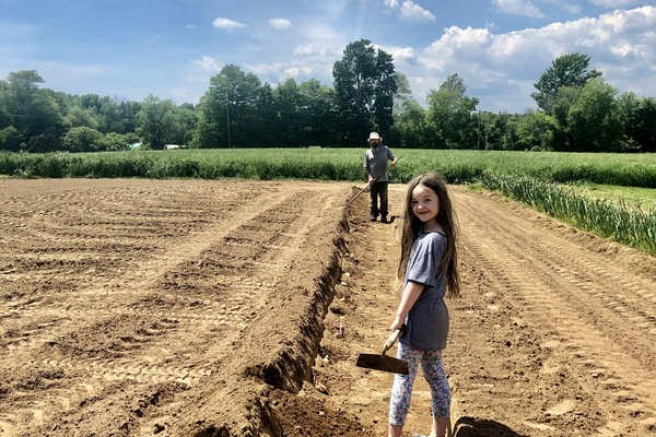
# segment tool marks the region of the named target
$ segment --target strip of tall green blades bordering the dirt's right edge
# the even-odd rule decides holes
[[[527,176],[485,173],[481,182],[573,226],[656,256],[656,209],[590,199],[573,188]]]

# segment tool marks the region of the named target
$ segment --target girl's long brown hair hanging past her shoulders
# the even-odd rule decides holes
[[[448,297],[460,297],[460,274],[458,273],[458,222],[456,212],[453,209],[446,182],[442,176],[433,172],[425,172],[412,179],[408,186],[406,202],[403,204],[402,223],[401,223],[401,258],[397,275],[400,281],[403,281],[406,269],[408,268],[408,259],[412,244],[419,237],[423,223],[412,213],[412,190],[421,185],[437,194],[438,208],[437,223],[446,234],[446,251],[442,258],[441,268],[446,275],[446,295]]]

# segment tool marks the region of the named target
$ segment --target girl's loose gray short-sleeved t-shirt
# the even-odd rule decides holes
[[[424,290],[408,312],[406,330],[399,342],[415,351],[437,351],[446,347],[446,281],[444,272],[440,269],[446,243],[446,236],[442,233],[422,232],[410,251],[403,290],[409,281],[422,284]]]

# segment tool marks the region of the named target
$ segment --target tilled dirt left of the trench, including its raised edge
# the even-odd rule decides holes
[[[0,435],[282,435],[344,184],[4,180]]]

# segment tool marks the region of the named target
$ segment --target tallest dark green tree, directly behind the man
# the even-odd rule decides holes
[[[337,107],[342,120],[342,143],[366,141],[371,130],[384,137],[393,125],[397,91],[393,58],[368,39],[351,43],[332,66]]]

